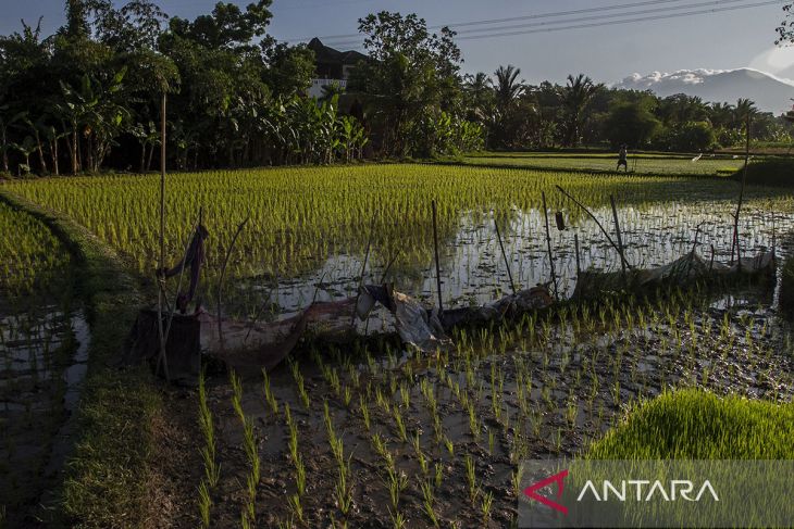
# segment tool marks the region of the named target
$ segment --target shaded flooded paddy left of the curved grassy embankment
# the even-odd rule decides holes
[[[75,431],[90,332],[73,263],[49,229],[0,204],[0,512],[47,519]]]

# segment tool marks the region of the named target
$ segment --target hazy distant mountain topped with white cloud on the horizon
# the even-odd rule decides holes
[[[652,90],[657,96],[697,96],[708,102],[734,103],[740,98],[756,102],[759,110],[776,115],[787,111],[794,98],[794,81],[757,70],[680,70],[672,73],[632,74],[617,88]]]

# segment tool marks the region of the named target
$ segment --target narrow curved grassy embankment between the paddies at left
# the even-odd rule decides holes
[[[0,200],[44,222],[78,262],[77,290],[91,329],[78,434],[53,525],[132,527],[145,515],[150,425],[161,398],[145,368],[112,366],[141,303],[116,255],[67,217],[0,189]]]

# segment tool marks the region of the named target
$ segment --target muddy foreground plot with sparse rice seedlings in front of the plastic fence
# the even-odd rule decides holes
[[[581,454],[640,399],[697,387],[791,401],[790,332],[771,298],[769,287],[755,287],[569,307],[459,332],[455,350],[433,357],[389,341],[307,347],[269,383],[259,373],[237,374],[261,462],[253,501],[231,374],[211,373],[220,465],[209,487],[211,524],[237,527],[246,516],[251,527],[513,526],[518,463]],[[181,390],[170,400],[189,430],[164,462],[174,469],[170,501],[178,513],[156,525],[196,527],[206,445],[199,398]],[[293,452],[305,468],[302,494]],[[395,497],[389,484],[400,482]],[[251,507],[256,520],[245,514]]]

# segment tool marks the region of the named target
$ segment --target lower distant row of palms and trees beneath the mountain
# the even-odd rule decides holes
[[[520,80],[499,66],[464,79],[469,117],[487,131],[489,149],[549,149],[628,144],[634,149],[697,152],[742,144],[747,116],[756,141],[792,142],[791,123],[740,99],[708,103],[683,93],[610,89],[580,74],[565,86]]]

